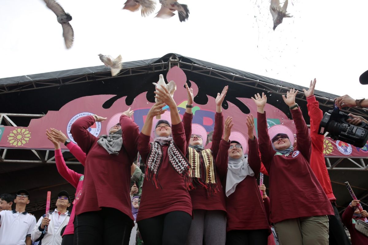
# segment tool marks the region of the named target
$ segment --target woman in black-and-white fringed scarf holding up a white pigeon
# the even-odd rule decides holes
[[[188,146],[176,103],[166,88],[156,88],[159,102],[149,110],[138,137],[138,150],[146,163],[145,183],[137,223],[145,245],[184,245],[192,215],[188,193],[190,165]],[[171,123],[159,120],[150,141],[152,121],[170,108]]]

